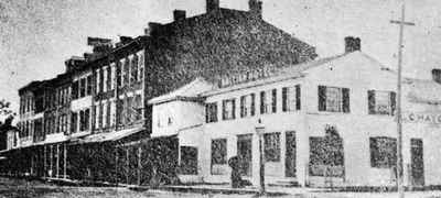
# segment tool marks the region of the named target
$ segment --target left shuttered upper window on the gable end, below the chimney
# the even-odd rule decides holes
[[[351,112],[349,89],[319,86],[319,111]]]

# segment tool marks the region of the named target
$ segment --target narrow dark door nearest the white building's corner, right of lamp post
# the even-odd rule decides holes
[[[287,131],[286,135],[284,175],[287,177],[295,177],[295,132]]]

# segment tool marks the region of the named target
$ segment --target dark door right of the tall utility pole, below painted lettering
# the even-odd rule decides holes
[[[424,161],[421,139],[410,140],[411,177],[413,186],[424,185]]]

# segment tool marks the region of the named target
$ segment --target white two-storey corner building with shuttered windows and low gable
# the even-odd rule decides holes
[[[178,135],[183,182],[229,183],[228,160],[239,156],[257,186],[263,125],[267,184],[395,186],[397,76],[357,50],[229,86],[197,78],[149,101],[151,135]],[[441,185],[441,85],[402,82],[405,185]]]

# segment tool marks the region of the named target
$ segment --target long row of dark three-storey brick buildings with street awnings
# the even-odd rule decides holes
[[[1,172],[130,184],[148,183],[157,172],[170,175],[179,166],[178,142],[150,138],[149,99],[194,77],[217,81],[318,56],[261,14],[258,0],[249,0],[249,11],[206,0],[206,13],[187,18],[175,10],[172,22],[150,22],[144,35],[115,44],[89,37],[93,53],[71,57],[63,74],[19,90],[20,130],[8,134]]]

